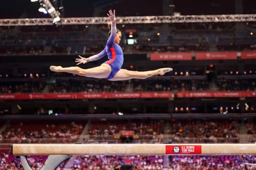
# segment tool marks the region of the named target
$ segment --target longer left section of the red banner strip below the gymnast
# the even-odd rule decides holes
[[[107,98],[173,98],[172,92],[116,92],[116,93],[67,93],[67,94],[0,94],[0,100],[17,99],[107,99]]]

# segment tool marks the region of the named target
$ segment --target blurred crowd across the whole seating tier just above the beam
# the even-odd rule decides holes
[[[86,124],[86,122],[55,123],[38,121],[30,124],[27,122],[7,123],[6,130],[0,134],[0,142],[60,142],[56,139],[67,139],[64,142],[75,142],[78,140]],[[239,122],[235,120],[173,120],[171,122],[164,120],[108,120],[93,121],[88,125],[90,126],[83,132],[82,138],[110,136],[112,139],[118,137],[116,140],[118,141],[121,131],[132,131],[132,137],[138,139],[135,139],[134,142],[139,142],[144,136],[154,139],[162,135],[169,135],[172,141],[176,143],[239,142]],[[256,133],[253,121],[247,122],[246,128],[247,134]],[[157,142],[161,143],[163,140],[162,136],[162,139]],[[84,142],[89,141],[84,140]],[[94,140],[93,142],[96,141]],[[150,140],[147,142],[150,142]]]

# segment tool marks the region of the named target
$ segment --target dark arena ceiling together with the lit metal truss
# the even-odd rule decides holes
[[[41,0],[45,1],[58,9],[61,18],[59,24],[103,24],[107,22],[106,12],[111,8],[117,11],[118,23],[256,21],[256,2],[252,0]],[[3,26],[49,25],[56,18],[50,13],[39,12],[38,8],[42,7],[39,2],[9,0],[3,4],[0,7],[0,25]],[[143,8],[138,10],[134,4]],[[174,6],[173,10],[170,6]]]

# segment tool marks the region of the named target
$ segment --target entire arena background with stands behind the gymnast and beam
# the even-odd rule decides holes
[[[11,154],[12,145],[23,143],[250,143],[254,150],[255,2],[4,3],[0,12],[1,170],[23,168]],[[42,8],[46,14],[38,11]],[[173,71],[116,82],[51,72],[50,65],[75,66],[78,55],[89,57],[104,48],[109,9],[116,10],[123,34],[124,69],[172,67]],[[82,154],[71,158],[67,154],[61,160],[69,159],[54,168],[253,169],[255,163],[252,152]],[[28,156],[29,167],[44,169],[46,155]]]

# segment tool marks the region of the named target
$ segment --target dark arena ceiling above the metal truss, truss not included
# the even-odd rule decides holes
[[[115,8],[119,16],[163,15],[163,6],[173,4],[181,15],[256,14],[255,0],[50,0],[63,6],[65,18],[102,17],[109,8]],[[236,3],[235,3],[236,2]],[[236,5],[237,4],[237,5]],[[143,6],[142,6],[143,5]],[[38,12],[38,2],[30,0],[2,1],[0,18],[47,18]],[[100,12],[95,12],[96,9]]]

